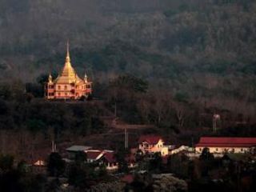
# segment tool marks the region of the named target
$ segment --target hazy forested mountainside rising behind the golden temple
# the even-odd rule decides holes
[[[72,63],[96,87],[118,74],[150,90],[254,114],[256,2],[252,0],[2,0],[3,81],[36,82]]]

